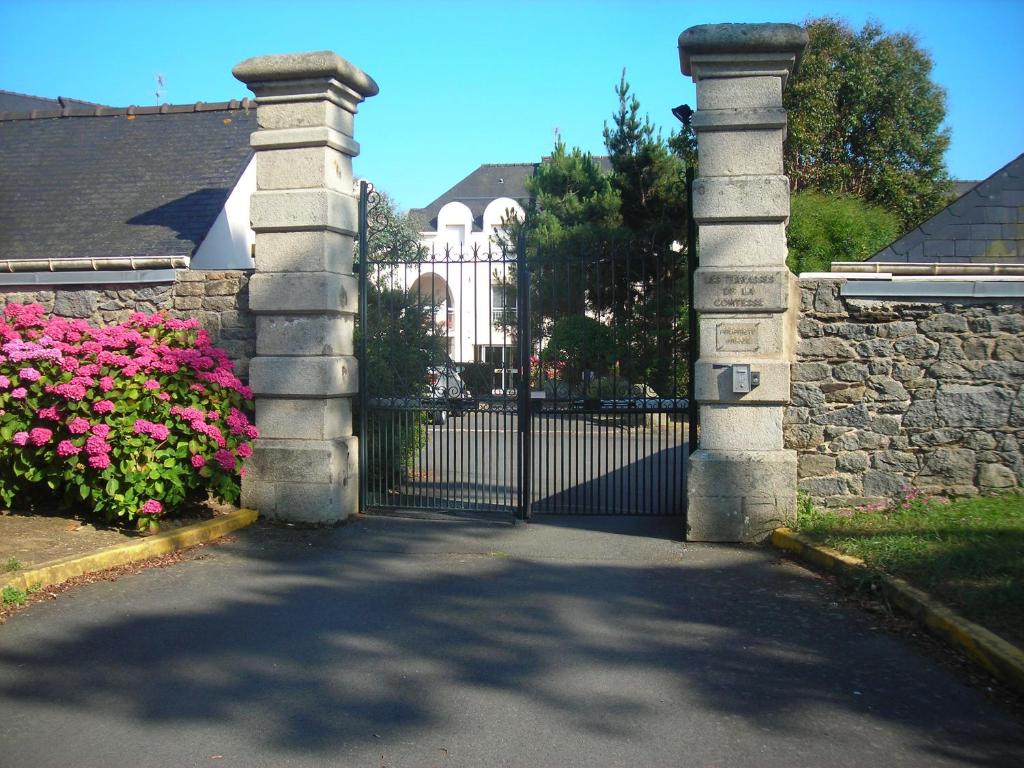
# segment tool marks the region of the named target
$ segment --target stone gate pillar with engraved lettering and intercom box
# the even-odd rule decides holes
[[[690,541],[756,541],[796,513],[797,455],[782,446],[799,308],[785,265],[782,87],[806,44],[807,33],[786,24],[703,25],[679,36],[683,74],[696,83],[699,164],[700,439],[687,473]],[[743,364],[760,384],[737,392],[733,367]]]

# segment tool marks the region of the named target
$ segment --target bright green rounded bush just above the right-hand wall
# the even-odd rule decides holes
[[[894,214],[858,198],[797,193],[791,202],[786,264],[797,274],[827,272],[833,261],[863,261],[899,232]]]

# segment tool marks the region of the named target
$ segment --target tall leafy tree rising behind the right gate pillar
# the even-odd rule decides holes
[[[916,225],[951,194],[945,92],[931,56],[873,22],[859,33],[828,17],[806,27],[809,45],[783,94],[794,191],[852,195]]]

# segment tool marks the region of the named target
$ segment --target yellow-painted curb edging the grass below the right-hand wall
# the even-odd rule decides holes
[[[870,574],[878,580],[889,602],[921,622],[929,632],[965,653],[993,677],[1024,693],[1024,651],[994,632],[968,621],[902,579],[872,570],[859,557],[815,544],[788,528],[775,528],[771,543],[776,549],[840,577],[863,579]]]

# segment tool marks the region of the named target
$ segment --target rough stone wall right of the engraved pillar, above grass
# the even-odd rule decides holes
[[[913,486],[974,496],[1024,484],[1024,305],[840,296],[800,282],[786,447],[817,504]]]

